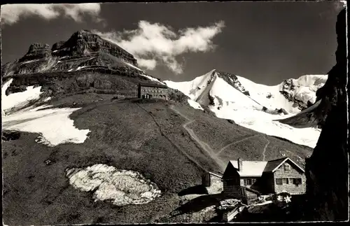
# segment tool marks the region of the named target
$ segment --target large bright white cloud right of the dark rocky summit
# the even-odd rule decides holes
[[[183,72],[183,65],[176,57],[186,52],[214,50],[212,39],[221,33],[223,27],[225,23],[221,21],[209,27],[190,27],[176,32],[172,27],[141,20],[134,30],[93,32],[130,52],[141,67],[154,69],[162,63],[179,74]]]

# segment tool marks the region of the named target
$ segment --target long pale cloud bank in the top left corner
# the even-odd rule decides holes
[[[83,15],[90,15],[97,22],[101,22],[100,11],[99,3],[6,4],[1,6],[1,22],[10,25],[23,17],[35,15],[45,20],[52,20],[60,16],[69,17],[76,22],[81,22]]]

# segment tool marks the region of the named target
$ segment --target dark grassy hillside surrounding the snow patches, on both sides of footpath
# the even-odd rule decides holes
[[[98,101],[101,98],[104,100]],[[79,129],[92,131],[85,143],[50,148],[34,141],[37,134],[27,133],[22,133],[16,141],[3,141],[3,222],[7,225],[149,223],[167,218],[179,206],[176,193],[199,184],[203,169],[218,171],[214,160],[183,130],[181,125],[186,120],[169,109],[169,103],[112,101],[111,95],[85,94],[52,104],[72,106],[77,99],[85,107],[71,118]],[[186,104],[175,106],[188,118],[196,119],[191,127],[214,150],[241,137],[258,134]],[[271,143],[267,158],[274,158],[279,149],[286,147],[298,155],[309,153],[293,143],[268,139]],[[247,160],[258,159],[265,143],[263,138],[248,139],[220,157],[225,161],[238,155],[244,155]],[[45,160],[53,164],[46,165]],[[71,188],[64,170],[97,163],[139,171],[157,183],[162,197],[139,206],[93,202],[90,193]]]

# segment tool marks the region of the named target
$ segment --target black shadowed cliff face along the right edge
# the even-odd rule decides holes
[[[306,161],[307,205],[304,220],[346,220],[349,210],[349,155],[346,105],[346,11],[337,17],[337,64],[318,90],[327,118],[316,148]]]

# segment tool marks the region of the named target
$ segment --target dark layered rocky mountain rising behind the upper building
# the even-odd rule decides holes
[[[158,84],[137,68],[137,60],[118,45],[90,31],[77,31],[68,41],[52,45],[34,43],[25,56],[2,66],[2,81],[12,83],[6,95],[41,86],[43,96],[95,92],[137,97],[139,83]],[[180,92],[169,89],[173,99],[186,101]]]

